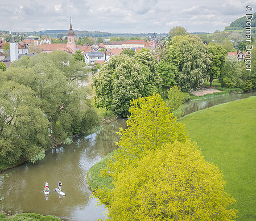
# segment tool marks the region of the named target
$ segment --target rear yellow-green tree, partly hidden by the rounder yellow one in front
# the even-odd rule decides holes
[[[106,163],[107,168],[102,170],[102,176],[110,176],[113,180],[129,165],[137,167],[138,159],[143,158],[147,150],[158,149],[167,142],[185,142],[188,138],[184,125],[176,121],[159,94],[131,101],[129,112],[128,128],[118,132],[121,134],[119,148]],[[107,188],[96,191],[96,196],[104,203],[110,203],[111,194]]]

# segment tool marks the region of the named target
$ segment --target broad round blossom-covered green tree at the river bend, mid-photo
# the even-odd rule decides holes
[[[112,109],[127,117],[130,100],[160,91],[157,60],[149,50],[141,50],[133,57],[126,54],[113,56],[93,76],[93,86],[97,107]]]

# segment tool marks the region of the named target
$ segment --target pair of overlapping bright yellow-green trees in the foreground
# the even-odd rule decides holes
[[[234,220],[223,175],[206,162],[160,95],[131,102],[128,128],[101,176],[112,185],[94,195],[109,220]]]

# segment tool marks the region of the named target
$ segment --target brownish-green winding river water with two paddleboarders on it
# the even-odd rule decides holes
[[[253,95],[256,92],[189,101],[184,104],[185,114]],[[86,184],[86,172],[117,148],[114,142],[119,140],[119,135],[115,131],[120,127],[126,128],[125,119],[104,125],[96,133],[79,135],[71,145],[46,151],[42,162],[25,163],[0,173],[0,176],[9,175],[0,179],[0,212],[10,215],[34,212],[77,221],[104,219],[104,207],[96,206],[96,199],[90,198],[92,192]],[[54,191],[59,180],[65,197]],[[51,189],[48,197],[42,193],[46,181]]]

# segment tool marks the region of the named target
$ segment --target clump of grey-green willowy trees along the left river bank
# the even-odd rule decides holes
[[[100,124],[80,87],[88,70],[71,54],[24,56],[0,72],[0,162],[44,157],[48,134],[64,140]]]

